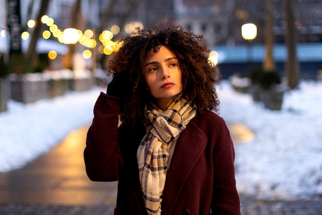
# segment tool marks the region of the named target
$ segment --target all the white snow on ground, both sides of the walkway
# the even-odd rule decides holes
[[[23,167],[90,124],[100,91],[105,89],[31,104],[9,101],[8,111],[0,113],[0,172]],[[254,140],[235,145],[239,193],[274,200],[321,196],[322,83],[301,81],[285,94],[281,111],[264,109],[225,81],[218,92],[226,122],[241,122],[255,134]]]

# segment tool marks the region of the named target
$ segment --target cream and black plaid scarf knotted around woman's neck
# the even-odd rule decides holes
[[[141,190],[149,214],[161,213],[168,169],[168,144],[179,137],[195,115],[195,106],[189,99],[180,99],[180,96],[164,112],[155,104],[146,107],[144,123],[147,133],[137,150],[137,160]]]

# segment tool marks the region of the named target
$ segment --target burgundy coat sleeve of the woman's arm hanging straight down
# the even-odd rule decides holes
[[[234,145],[226,123],[223,122],[218,131],[218,138],[213,151],[212,214],[240,214],[234,160]]]

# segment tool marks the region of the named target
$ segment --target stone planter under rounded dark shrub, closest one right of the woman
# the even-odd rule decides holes
[[[279,91],[262,91],[261,100],[264,107],[273,111],[279,111],[282,108],[284,92]]]

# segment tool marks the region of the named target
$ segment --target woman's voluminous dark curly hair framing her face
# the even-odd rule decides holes
[[[108,75],[122,74],[124,98],[121,99],[120,119],[125,124],[142,120],[145,105],[153,99],[144,78],[144,61],[160,46],[171,50],[178,59],[182,73],[183,95],[187,96],[198,113],[219,110],[216,85],[220,82],[218,68],[208,60],[209,50],[203,35],[184,31],[181,25],[160,21],[153,29],[137,32],[120,41],[121,47],[109,62]]]

